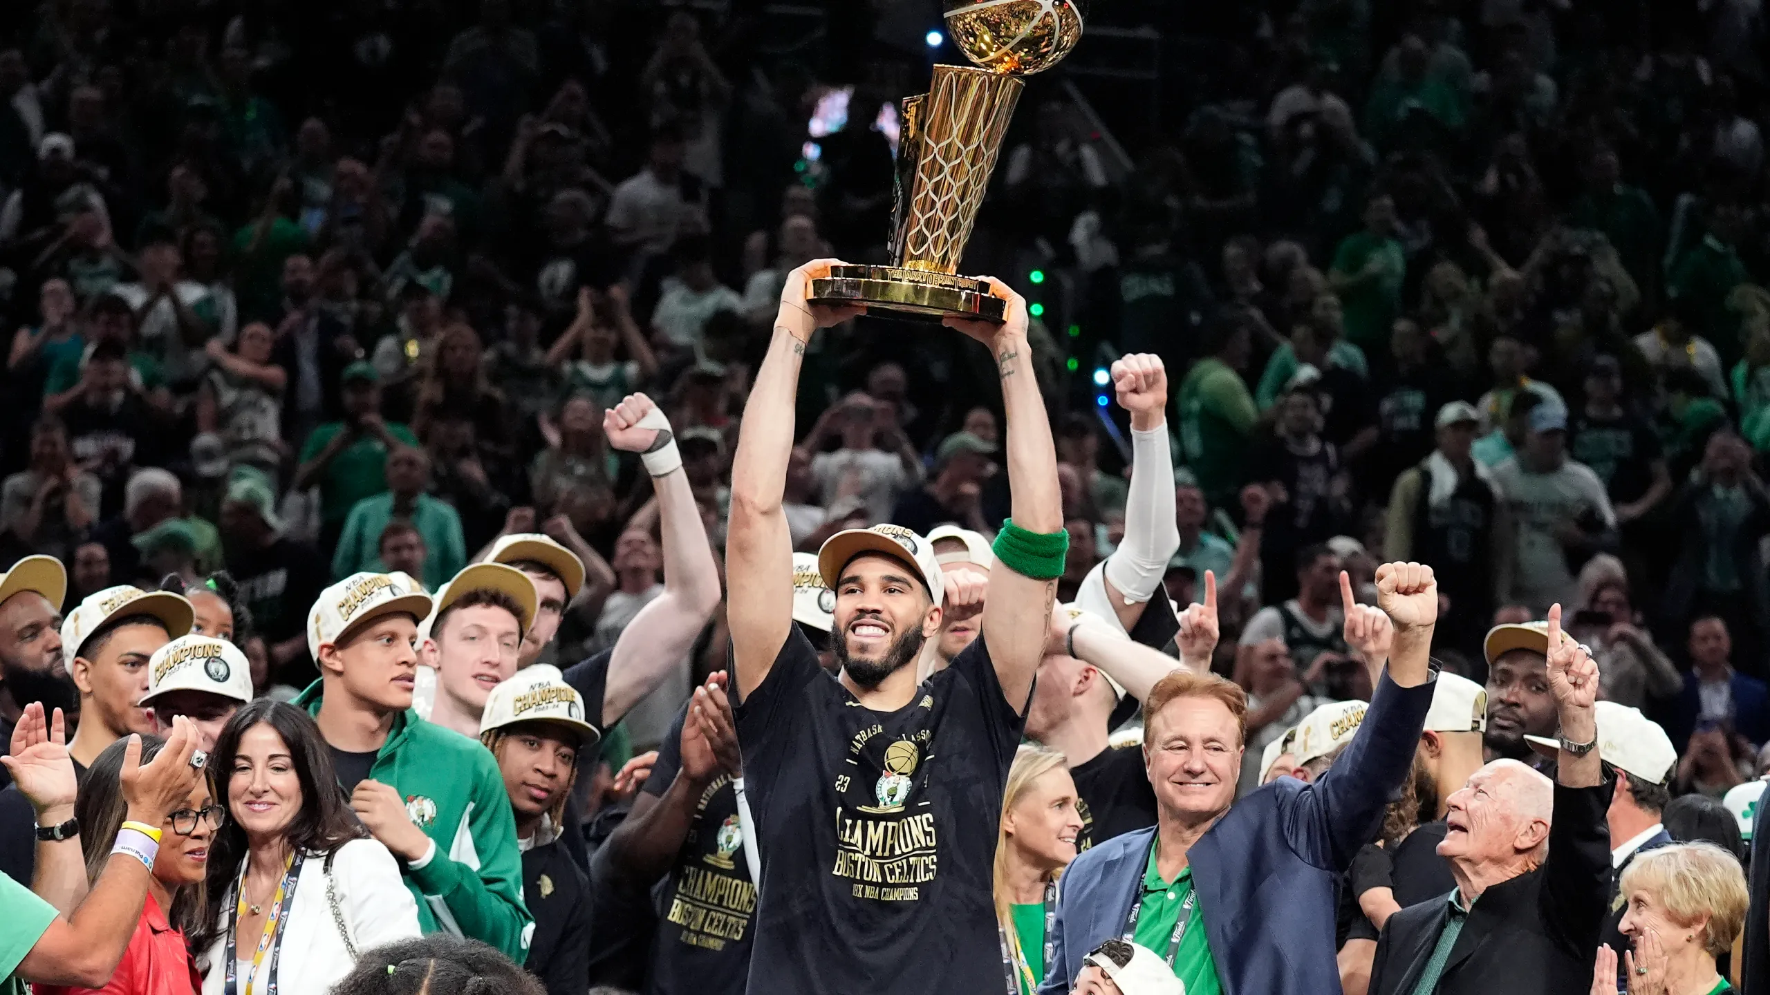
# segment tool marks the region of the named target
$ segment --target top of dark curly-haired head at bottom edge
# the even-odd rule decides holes
[[[333,995],[545,995],[542,983],[480,940],[432,933],[365,951]]]

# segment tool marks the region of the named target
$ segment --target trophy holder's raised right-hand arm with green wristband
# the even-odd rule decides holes
[[[1014,528],[1004,524],[997,538],[997,567],[989,572],[982,636],[1002,694],[1014,712],[1025,712],[1034,671],[1044,657],[1051,598],[1057,595],[1069,536],[1064,533],[1064,499],[1057,487],[1057,444],[1051,441],[1051,421],[1044,413],[1044,398],[1039,397],[1032,347],[1027,343],[1027,301],[1000,280],[989,280],[989,290],[1007,301],[1007,320],[993,326],[949,317],[945,324],[988,345],[1002,377],[1009,522]],[[1004,549],[1011,549],[1007,544],[1021,551],[1023,565],[1043,575],[1028,577],[1007,563],[1002,556]]]

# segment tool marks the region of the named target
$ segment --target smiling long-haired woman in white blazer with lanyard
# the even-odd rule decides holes
[[[204,995],[327,995],[361,951],[418,937],[418,905],[386,846],[338,791],[306,712],[258,699],[209,758],[227,823],[209,850],[205,901],[186,928]]]

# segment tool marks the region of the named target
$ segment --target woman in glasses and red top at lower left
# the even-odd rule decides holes
[[[37,995],[195,995],[202,984],[184,933],[173,922],[202,905],[204,871],[214,830],[221,825],[221,809],[212,802],[209,784],[198,781],[184,807],[170,813],[159,825],[127,821],[122,767],[133,740],[135,737],[124,737],[113,742],[92,761],[80,783],[74,818],[80,820],[80,848],[88,882],[99,880],[113,852],[138,855],[149,866],[142,919],[110,984],[99,990],[39,984]],[[138,765],[159,756],[166,745],[159,737],[140,740]]]

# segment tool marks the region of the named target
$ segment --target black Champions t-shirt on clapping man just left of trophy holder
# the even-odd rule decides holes
[[[646,781],[662,797],[681,768],[681,724],[676,715]],[[754,811],[752,811],[754,814]],[[756,885],[743,859],[738,795],[731,777],[713,779],[694,809],[694,825],[664,880],[658,928],[651,942],[648,995],[743,995],[756,931]]]

